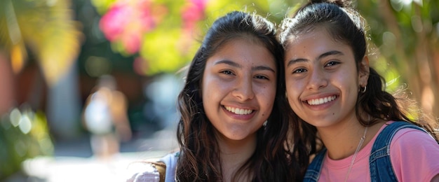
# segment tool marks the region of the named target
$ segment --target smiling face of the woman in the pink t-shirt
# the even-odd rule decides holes
[[[366,85],[367,74],[358,74],[349,45],[314,29],[288,43],[285,81],[292,110],[311,125],[327,127],[357,120],[358,87]]]

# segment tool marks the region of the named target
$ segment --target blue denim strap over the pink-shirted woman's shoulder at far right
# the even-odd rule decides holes
[[[390,144],[396,132],[407,127],[426,132],[421,127],[413,125],[412,123],[398,121],[384,127],[384,129],[378,134],[377,139],[372,146],[372,152],[370,153],[369,158],[370,180],[372,182],[398,181],[391,163]]]

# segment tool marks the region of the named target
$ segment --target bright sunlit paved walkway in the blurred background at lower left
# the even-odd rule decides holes
[[[23,174],[11,176],[6,182],[69,182],[69,181],[126,181],[135,170],[133,162],[156,160],[177,148],[175,133],[155,132],[147,139],[133,139],[121,144],[121,153],[110,160],[95,158],[88,138],[55,144],[55,156],[40,157],[23,162]]]

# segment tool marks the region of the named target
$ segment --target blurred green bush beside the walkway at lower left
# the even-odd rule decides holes
[[[53,155],[43,113],[13,109],[0,120],[0,180],[21,169],[21,163],[39,155]]]

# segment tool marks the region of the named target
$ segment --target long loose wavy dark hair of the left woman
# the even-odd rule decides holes
[[[290,160],[286,135],[290,128],[285,115],[285,74],[283,48],[276,39],[276,27],[259,15],[234,11],[215,20],[189,66],[182,92],[178,96],[181,118],[177,140],[181,155],[177,162],[177,181],[222,181],[219,146],[215,130],[203,111],[201,81],[206,61],[227,41],[252,38],[264,45],[276,60],[276,100],[266,127],[257,131],[255,153],[234,175],[237,181],[248,172],[252,181],[296,181],[301,178]]]

